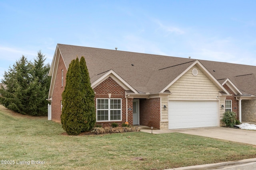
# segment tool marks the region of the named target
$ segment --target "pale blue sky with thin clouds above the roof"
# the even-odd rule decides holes
[[[0,0],[0,79],[57,43],[256,66],[255,0]]]

